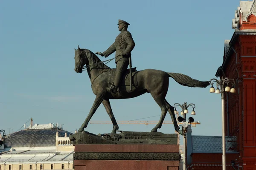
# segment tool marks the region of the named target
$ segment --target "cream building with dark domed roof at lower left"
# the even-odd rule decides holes
[[[74,147],[58,125],[30,126],[6,137],[0,170],[70,170]]]

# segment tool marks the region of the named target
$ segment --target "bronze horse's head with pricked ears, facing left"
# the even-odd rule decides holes
[[[82,73],[83,66],[86,63],[86,57],[83,56],[82,50],[79,48],[76,50],[75,48],[75,71],[77,73]]]

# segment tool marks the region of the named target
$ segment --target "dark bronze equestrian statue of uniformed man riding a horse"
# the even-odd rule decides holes
[[[177,124],[174,114],[174,107],[170,105],[165,97],[169,88],[169,77],[175,79],[180,85],[188,87],[205,88],[209,81],[199,81],[180,73],[168,73],[165,71],[145,69],[137,71],[131,67],[131,51],[135,43],[131,33],[127,31],[129,23],[119,20],[118,28],[121,32],[115,42],[104,52],[96,52],[102,57],[108,57],[116,51],[116,68],[111,69],[105,65],[92,51],[88,49],[75,48],[75,71],[82,73],[87,70],[91,81],[93,93],[96,95],[93,106],[79,128],[78,132],[84,131],[93,114],[102,103],[113,123],[111,133],[116,133],[119,129],[116,119],[113,115],[109,99],[128,99],[150,93],[161,108],[161,117],[157,125],[151,130],[156,132],[162,127],[166,113],[169,112],[175,130],[183,135],[183,130]],[[111,61],[112,59],[106,60]],[[130,65],[129,69],[128,65]]]

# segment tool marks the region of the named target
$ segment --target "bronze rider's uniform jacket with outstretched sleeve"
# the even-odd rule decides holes
[[[119,60],[129,61],[131,57],[131,51],[135,46],[134,40],[131,37],[129,31],[121,31],[121,33],[116,37],[115,42],[102,54],[108,57],[110,54],[116,51],[116,62]]]

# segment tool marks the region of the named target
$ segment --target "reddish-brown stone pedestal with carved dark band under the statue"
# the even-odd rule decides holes
[[[75,170],[178,170],[177,144],[76,144]]]

